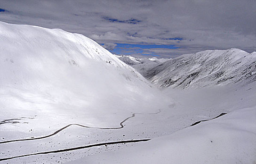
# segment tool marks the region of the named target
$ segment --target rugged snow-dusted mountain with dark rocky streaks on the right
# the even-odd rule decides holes
[[[160,87],[201,88],[256,81],[256,52],[240,49],[184,54],[149,70],[145,77]]]

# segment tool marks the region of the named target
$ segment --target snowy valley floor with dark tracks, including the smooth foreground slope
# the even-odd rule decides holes
[[[255,84],[165,89],[167,107],[121,116],[104,113],[104,120],[111,120],[98,120],[97,128],[54,116],[48,123],[53,127],[40,131],[28,128],[39,124],[37,116],[6,118],[0,122],[0,164],[255,164]],[[227,114],[213,119],[221,113]],[[208,121],[190,127],[200,120]],[[29,140],[8,142],[20,139]]]

